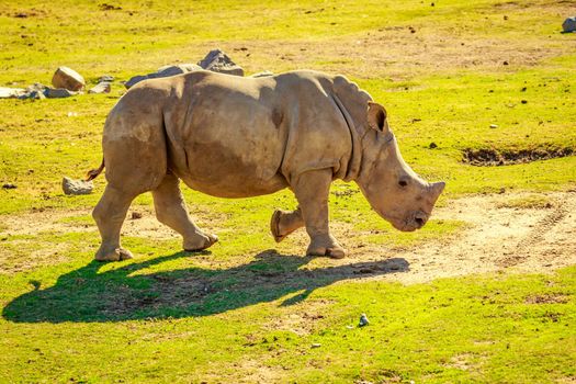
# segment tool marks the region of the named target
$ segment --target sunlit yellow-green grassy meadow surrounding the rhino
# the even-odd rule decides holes
[[[170,231],[126,229],[135,259],[98,263],[90,211],[105,180],[83,196],[60,184],[100,163],[105,116],[125,92],[120,81],[219,47],[247,75],[309,68],[357,81],[386,106],[414,170],[447,181],[441,205],[504,192],[511,204],[538,206],[540,193],[576,188],[576,34],[560,33],[573,3],[108,5],[0,2],[0,87],[49,84],[63,65],[88,88],[115,77],[109,94],[0,100],[0,184],[18,187],[0,190],[0,382],[576,380],[576,266],[413,285],[387,279],[409,273],[410,249],[470,223],[432,218],[399,233],[354,184],[336,182],[330,216],[345,247],[382,245],[370,260],[341,262],[304,257],[302,233],[273,241],[273,210],[296,205],[289,191],[223,200],[184,188],[192,216],[221,242],[187,253]],[[477,167],[463,161],[466,151],[520,160]],[[573,155],[547,158],[557,153]],[[543,159],[522,162],[526,154]],[[151,196],[131,211],[153,215]],[[391,248],[406,259],[387,258]],[[360,328],[362,313],[371,324]]]

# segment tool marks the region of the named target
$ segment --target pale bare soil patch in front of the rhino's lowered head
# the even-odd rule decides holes
[[[451,201],[437,210],[434,217],[463,221],[470,225],[467,229],[403,250],[360,248],[351,258],[404,258],[408,271],[386,274],[404,283],[504,270],[542,273],[575,264],[576,191],[546,194],[549,208],[502,204],[521,196],[478,195]]]

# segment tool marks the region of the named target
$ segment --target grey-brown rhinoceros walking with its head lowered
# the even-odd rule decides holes
[[[295,211],[272,213],[276,241],[306,227],[307,255],[345,257],[328,227],[336,179],[354,181],[399,230],[422,227],[444,189],[403,160],[385,109],[343,76],[300,70],[241,78],[199,70],[142,81],[110,112],[102,139],[108,184],[94,207],[97,260],[123,260],[120,230],[131,202],[151,191],[156,216],[197,251],[218,238],[190,218],[179,182],[218,197],[290,188]]]

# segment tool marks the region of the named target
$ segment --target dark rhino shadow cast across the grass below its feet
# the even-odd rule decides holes
[[[145,269],[190,253],[178,252],[100,272],[102,263],[61,275],[54,286],[34,290],[9,303],[2,316],[15,323],[92,323],[181,318],[219,314],[295,294],[282,303],[305,300],[315,289],[360,275],[408,270],[405,259],[302,269],[313,258],[268,250],[248,264],[229,269],[191,267],[149,272]],[[139,272],[143,272],[142,274]]]

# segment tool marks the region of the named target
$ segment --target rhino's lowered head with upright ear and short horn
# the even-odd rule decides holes
[[[445,183],[422,180],[404,161],[382,105],[369,102],[366,123],[355,182],[372,208],[396,229],[421,228]]]

